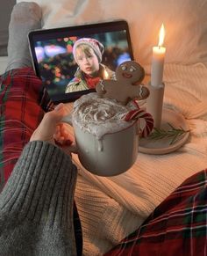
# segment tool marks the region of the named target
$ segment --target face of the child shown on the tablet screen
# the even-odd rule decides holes
[[[76,48],[76,60],[79,68],[90,77],[96,76],[99,70],[99,62],[92,48]]]

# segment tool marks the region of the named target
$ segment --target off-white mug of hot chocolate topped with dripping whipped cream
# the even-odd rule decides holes
[[[75,143],[82,165],[101,176],[118,175],[135,162],[139,124],[124,117],[133,106],[89,93],[77,99],[72,113]]]

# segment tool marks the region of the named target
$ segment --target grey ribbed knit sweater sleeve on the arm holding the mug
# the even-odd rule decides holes
[[[0,194],[1,255],[76,255],[71,158],[46,142],[25,146]]]

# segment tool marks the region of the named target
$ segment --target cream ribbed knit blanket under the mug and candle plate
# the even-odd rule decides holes
[[[147,68],[146,68],[147,70]],[[139,153],[132,168],[113,178],[79,165],[75,200],[82,220],[83,254],[101,255],[137,229],[184,179],[207,167],[207,69],[203,64],[165,66],[165,106],[186,118],[190,136],[168,155]]]

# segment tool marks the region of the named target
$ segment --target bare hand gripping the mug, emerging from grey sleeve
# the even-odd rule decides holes
[[[61,119],[68,114],[64,104],[59,104],[54,111],[48,112],[44,115],[39,127],[33,132],[30,141],[45,141],[54,143],[68,153],[67,146],[73,143],[73,138],[68,134],[67,128]]]

